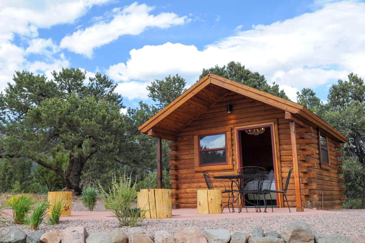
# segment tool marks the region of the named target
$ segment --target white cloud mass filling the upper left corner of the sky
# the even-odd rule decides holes
[[[2,0],[0,1],[0,91],[12,82],[14,72],[29,70],[46,72],[68,66],[69,61],[49,39],[37,38],[39,28],[74,23],[93,5],[110,0]],[[19,35],[28,46],[17,46],[14,36]],[[27,55],[40,55],[40,61],[27,61]],[[33,59],[34,60],[34,59]]]

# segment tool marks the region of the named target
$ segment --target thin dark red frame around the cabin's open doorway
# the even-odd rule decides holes
[[[248,129],[253,129],[253,128],[260,128],[260,127],[270,127],[270,135],[271,135],[271,150],[272,150],[272,157],[273,157],[273,167],[274,167],[274,181],[276,181],[276,178],[277,178],[277,175],[276,175],[276,156],[275,156],[275,147],[274,147],[274,132],[273,132],[273,124],[266,124],[266,125],[262,125],[262,126],[252,126],[252,127],[245,127],[245,128],[239,128],[239,129],[236,129],[236,137],[238,138],[238,141],[237,144],[238,144],[238,154],[237,154],[237,157],[238,157],[238,168],[241,168],[243,167],[243,164],[242,164],[242,139],[241,139],[241,132],[242,131],[245,131],[245,130],[248,130]],[[277,183],[275,182],[275,190],[278,190],[277,188]],[[276,193],[276,206],[280,206],[279,205],[279,198],[278,198],[278,193]]]

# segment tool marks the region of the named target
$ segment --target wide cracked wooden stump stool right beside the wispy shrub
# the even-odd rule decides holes
[[[171,189],[141,189],[137,205],[142,218],[171,218]]]

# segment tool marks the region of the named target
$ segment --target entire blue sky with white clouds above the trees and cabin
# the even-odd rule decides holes
[[[1,1],[0,90],[16,70],[101,72],[124,104],[151,104],[154,79],[240,61],[295,101],[303,87],[326,100],[350,72],[365,76],[363,1]]]

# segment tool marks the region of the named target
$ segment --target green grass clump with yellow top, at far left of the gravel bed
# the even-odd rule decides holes
[[[9,198],[5,204],[13,210],[14,224],[24,224],[33,203],[28,195],[22,194]]]

